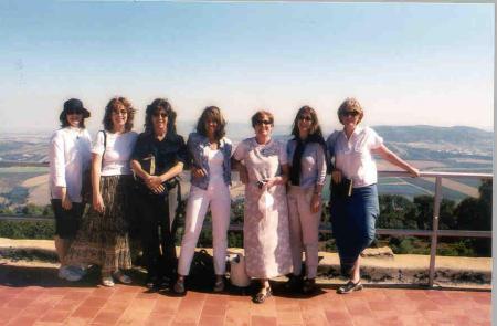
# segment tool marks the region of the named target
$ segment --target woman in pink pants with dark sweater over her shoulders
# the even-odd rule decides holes
[[[287,143],[289,168],[288,211],[294,273],[286,287],[304,294],[316,287],[321,191],[326,179],[325,139],[316,115],[303,106],[295,116]],[[302,275],[302,253],[306,255],[306,278]]]

